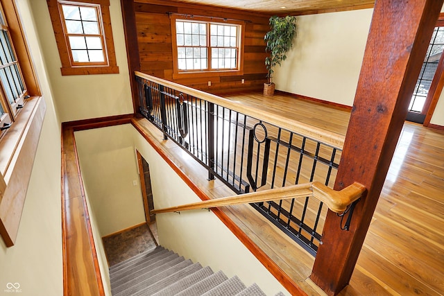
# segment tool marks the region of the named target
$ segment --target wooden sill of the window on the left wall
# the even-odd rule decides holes
[[[0,171],[6,185],[0,196],[0,234],[7,247],[17,237],[45,111],[42,97],[28,98],[17,121],[0,140]]]

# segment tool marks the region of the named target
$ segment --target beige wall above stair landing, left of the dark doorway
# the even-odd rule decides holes
[[[101,237],[145,221],[131,130],[131,125],[119,125],[75,133],[85,190]]]

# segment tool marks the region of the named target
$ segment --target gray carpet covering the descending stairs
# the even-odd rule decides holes
[[[161,246],[112,265],[110,281],[114,296],[265,296],[257,284],[246,287],[237,276],[228,279]]]

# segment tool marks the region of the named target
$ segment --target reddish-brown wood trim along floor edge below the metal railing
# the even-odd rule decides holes
[[[210,200],[210,198],[202,191],[192,180],[189,179],[187,174],[183,172],[175,163],[169,159],[168,155],[164,153],[158,143],[151,138],[140,121],[146,121],[146,119],[133,119],[131,123],[134,128],[142,134],[142,137],[150,143],[154,150],[159,153],[160,157],[164,159],[173,171],[175,171],[179,177],[189,186],[189,188],[198,195],[200,200]],[[151,124],[151,123],[150,123]],[[307,295],[293,279],[291,279],[264,251],[262,251],[228,216],[219,208],[212,208],[213,213],[225,224],[228,229],[243,243],[248,250],[264,265],[264,267],[286,288],[291,295]]]

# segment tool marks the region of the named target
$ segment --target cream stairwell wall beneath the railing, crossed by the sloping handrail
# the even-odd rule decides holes
[[[150,166],[155,208],[171,207],[200,198],[173,171],[134,128],[135,147]],[[156,216],[160,244],[178,254],[210,266],[214,272],[237,275],[246,286],[257,283],[266,295],[287,290],[211,211],[185,211]]]

